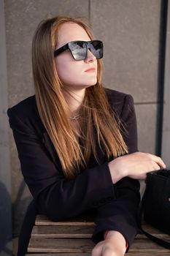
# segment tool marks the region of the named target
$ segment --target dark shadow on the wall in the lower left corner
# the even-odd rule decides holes
[[[12,246],[7,244],[12,242],[12,238],[18,237],[27,206],[32,200],[31,196],[22,198],[25,188],[26,183],[23,180],[12,204],[7,188],[0,181],[0,255],[13,255]]]

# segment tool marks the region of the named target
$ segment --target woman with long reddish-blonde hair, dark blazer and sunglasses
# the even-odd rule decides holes
[[[36,97],[8,110],[34,197],[18,255],[26,252],[37,213],[57,221],[95,211],[93,256],[124,255],[136,236],[138,179],[165,164],[137,152],[133,99],[102,87],[102,56],[102,42],[80,18],[51,18],[36,30]]]

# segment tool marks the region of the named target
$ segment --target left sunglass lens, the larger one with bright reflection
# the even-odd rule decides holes
[[[85,42],[72,42],[69,45],[72,56],[76,61],[81,61],[86,58],[86,45]]]

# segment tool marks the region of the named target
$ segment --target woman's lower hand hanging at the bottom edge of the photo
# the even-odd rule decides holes
[[[123,235],[117,231],[109,231],[107,238],[93,248],[92,256],[123,256],[125,251]]]

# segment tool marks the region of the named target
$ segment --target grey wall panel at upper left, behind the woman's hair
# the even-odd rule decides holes
[[[34,93],[31,41],[38,23],[54,15],[88,17],[88,1],[5,1],[9,105]]]

